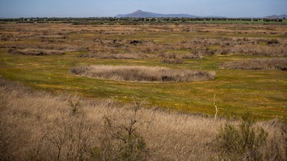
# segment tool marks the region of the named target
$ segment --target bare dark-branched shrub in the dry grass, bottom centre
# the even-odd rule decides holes
[[[139,119],[141,104],[134,103],[131,115],[123,119],[105,115],[105,126],[100,146],[96,146],[92,155],[96,160],[147,160],[150,150],[139,129],[146,122]],[[120,121],[121,120],[121,121]]]

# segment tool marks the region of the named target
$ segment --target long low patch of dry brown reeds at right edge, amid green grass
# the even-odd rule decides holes
[[[226,62],[220,67],[246,70],[287,70],[287,59],[247,59],[241,61]]]

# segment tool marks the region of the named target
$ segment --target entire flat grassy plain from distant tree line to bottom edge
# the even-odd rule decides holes
[[[277,24],[0,23],[0,160],[286,160],[286,38]]]

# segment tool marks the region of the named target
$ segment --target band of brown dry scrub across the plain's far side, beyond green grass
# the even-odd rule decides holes
[[[49,53],[49,50],[60,50],[63,53],[88,51],[79,57],[98,59],[153,59],[168,54],[177,55],[177,59],[201,59],[205,55],[214,54],[287,57],[286,39],[256,37],[256,35],[284,36],[286,30],[281,26],[232,24],[73,26],[63,23],[7,23],[0,24],[0,29],[0,48],[41,49],[43,53]],[[145,35],[148,32],[155,33],[155,37],[150,38],[150,35]],[[169,37],[166,32],[180,33],[180,35],[183,32],[189,32],[190,34],[177,39]],[[209,37],[211,32],[214,35],[223,36]],[[158,33],[161,33],[164,39],[159,37]],[[143,37],[136,38],[137,34],[143,34]],[[249,36],[242,37],[242,35]]]

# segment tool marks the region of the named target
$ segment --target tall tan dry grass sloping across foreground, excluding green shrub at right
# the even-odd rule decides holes
[[[0,160],[222,157],[214,147],[223,119],[141,108],[137,102],[123,106],[111,100],[55,96],[2,78],[0,91]],[[256,126],[268,133],[261,159],[286,160],[286,126],[277,120]]]

